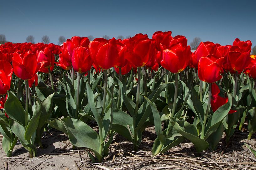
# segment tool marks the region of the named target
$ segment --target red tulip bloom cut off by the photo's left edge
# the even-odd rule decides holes
[[[0,61],[0,95],[6,94],[10,89],[13,68],[8,61]]]

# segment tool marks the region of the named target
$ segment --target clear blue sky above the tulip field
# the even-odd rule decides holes
[[[172,31],[190,43],[202,41],[232,44],[235,38],[256,45],[255,0],[201,1],[2,1],[0,34],[12,42],[25,42],[43,35],[57,43],[59,36],[117,37]]]

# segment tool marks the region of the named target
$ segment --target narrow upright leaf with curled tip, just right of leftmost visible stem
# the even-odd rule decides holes
[[[29,121],[29,124],[26,128],[25,134],[24,134],[24,138],[27,141],[30,141],[30,138],[32,137],[32,135],[36,131],[36,129],[38,127],[38,124],[39,124],[40,115],[41,115],[41,112],[42,112],[41,100],[38,97],[35,97],[35,98],[37,100],[36,107],[35,107],[35,110],[33,112],[33,116],[31,118],[31,120]]]

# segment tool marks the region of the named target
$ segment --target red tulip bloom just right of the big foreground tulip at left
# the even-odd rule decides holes
[[[55,56],[50,48],[45,47],[44,51],[40,51],[37,56],[37,62],[41,63],[39,71],[49,73],[48,68],[52,71],[54,68]]]

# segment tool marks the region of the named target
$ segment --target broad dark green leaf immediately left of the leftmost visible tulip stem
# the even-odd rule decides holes
[[[25,124],[25,111],[18,100],[17,97],[15,97],[12,93],[9,91],[8,93],[8,98],[5,102],[5,111],[7,115],[13,119],[16,120],[17,122],[20,122],[21,124]],[[27,120],[26,120],[27,121]]]

